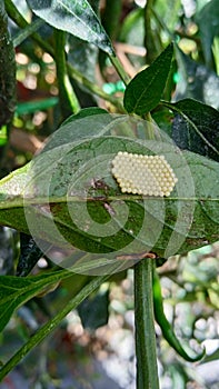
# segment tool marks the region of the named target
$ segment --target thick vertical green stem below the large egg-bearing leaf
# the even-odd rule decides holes
[[[153,261],[147,258],[135,266],[137,389],[159,389],[152,296]]]

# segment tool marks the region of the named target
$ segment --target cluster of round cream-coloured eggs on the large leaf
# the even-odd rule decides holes
[[[112,174],[125,193],[170,196],[178,181],[163,156],[119,151],[112,160]]]

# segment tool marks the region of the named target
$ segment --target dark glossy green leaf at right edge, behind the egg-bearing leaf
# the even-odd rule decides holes
[[[192,99],[163,104],[176,116],[172,139],[177,146],[219,161],[219,112]]]

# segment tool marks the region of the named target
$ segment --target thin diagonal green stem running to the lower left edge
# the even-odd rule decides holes
[[[0,381],[11,371],[28,352],[30,352],[37,345],[39,345],[60,322],[63,318],[76,307],[84,300],[92,291],[101,286],[110,276],[96,277],[80,292],[70,300],[67,306],[58,312],[51,320],[42,326],[29,340],[24,343],[14,356],[0,369]]]

